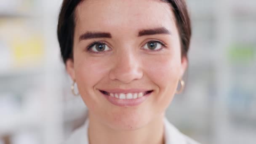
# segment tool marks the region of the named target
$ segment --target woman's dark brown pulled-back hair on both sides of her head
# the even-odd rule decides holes
[[[73,41],[75,31],[75,8],[83,0],[63,0],[57,35],[61,49],[61,56],[66,63],[67,59],[73,58]],[[170,3],[176,18],[176,25],[181,40],[181,56],[187,57],[191,37],[191,25],[185,0],[162,0]]]

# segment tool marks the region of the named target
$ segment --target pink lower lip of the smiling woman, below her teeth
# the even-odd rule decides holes
[[[151,95],[151,93],[147,93],[146,95],[144,95],[140,98],[137,98],[137,99],[117,99],[115,97],[106,95],[104,93],[101,93],[101,94],[104,95],[110,103],[112,103],[116,106],[119,106],[119,107],[127,107],[127,106],[138,106],[139,104],[146,101],[149,98],[149,96]]]

